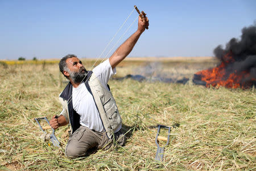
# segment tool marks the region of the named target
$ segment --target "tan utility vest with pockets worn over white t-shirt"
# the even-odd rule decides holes
[[[100,113],[106,134],[111,138],[113,133],[122,125],[122,119],[115,104],[114,97],[108,89],[102,86],[100,80],[93,73],[88,80],[88,84],[98,112]],[[60,97],[60,102],[63,105],[63,111],[60,115],[63,115],[66,121],[69,122],[68,102],[62,97]]]

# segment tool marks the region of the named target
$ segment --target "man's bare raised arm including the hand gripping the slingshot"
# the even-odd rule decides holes
[[[138,29],[133,35],[131,35],[117,50],[115,50],[114,54],[109,58],[109,63],[114,69],[118,63],[120,63],[127,55],[133,50],[134,45],[139,39],[139,36],[144,32],[145,28],[148,27],[148,18],[146,15],[144,19],[139,17]]]

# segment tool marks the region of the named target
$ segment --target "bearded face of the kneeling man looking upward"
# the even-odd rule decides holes
[[[82,65],[82,62],[76,58],[68,58],[66,60],[67,67],[69,69],[68,76],[70,80],[73,80],[74,83],[81,83],[84,77],[87,74],[85,67]]]

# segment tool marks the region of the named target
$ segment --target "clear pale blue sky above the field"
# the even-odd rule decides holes
[[[134,11],[104,51],[134,5],[146,12],[150,26],[129,57],[213,56],[216,46],[256,23],[255,0],[0,0],[0,59],[108,58],[137,30]]]

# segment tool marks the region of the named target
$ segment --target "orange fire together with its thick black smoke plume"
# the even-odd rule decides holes
[[[241,40],[214,49],[220,65],[196,72],[193,83],[206,87],[249,88],[256,85],[256,24],[242,29]]]

